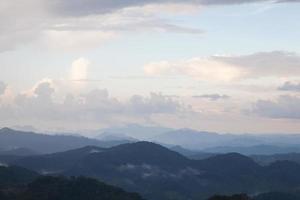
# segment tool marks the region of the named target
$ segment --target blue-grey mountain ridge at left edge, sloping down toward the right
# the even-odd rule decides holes
[[[84,146],[111,147],[121,143],[123,142],[100,141],[80,136],[45,135],[9,128],[0,129],[0,146],[6,150],[26,148],[39,153],[53,153]]]

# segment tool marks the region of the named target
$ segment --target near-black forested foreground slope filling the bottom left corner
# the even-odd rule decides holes
[[[20,167],[0,167],[1,200],[143,200],[137,193],[85,177],[49,177]]]

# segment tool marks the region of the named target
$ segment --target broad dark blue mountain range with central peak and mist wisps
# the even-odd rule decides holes
[[[216,193],[253,194],[300,187],[297,163],[261,166],[238,153],[191,160],[151,142],[99,149],[89,146],[10,164],[39,172],[97,178],[139,192],[149,200],[204,200]]]

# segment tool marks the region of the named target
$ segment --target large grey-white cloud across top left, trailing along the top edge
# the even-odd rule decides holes
[[[124,31],[203,34],[163,14],[191,14],[210,5],[299,2],[292,0],[2,0],[0,51],[20,45],[62,50],[95,48]],[[59,41],[59,42],[57,42]],[[44,46],[43,46],[44,47]]]

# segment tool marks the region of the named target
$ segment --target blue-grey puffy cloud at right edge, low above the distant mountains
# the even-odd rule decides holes
[[[259,100],[252,112],[263,117],[300,119],[300,98],[297,96],[280,96],[277,100]]]

